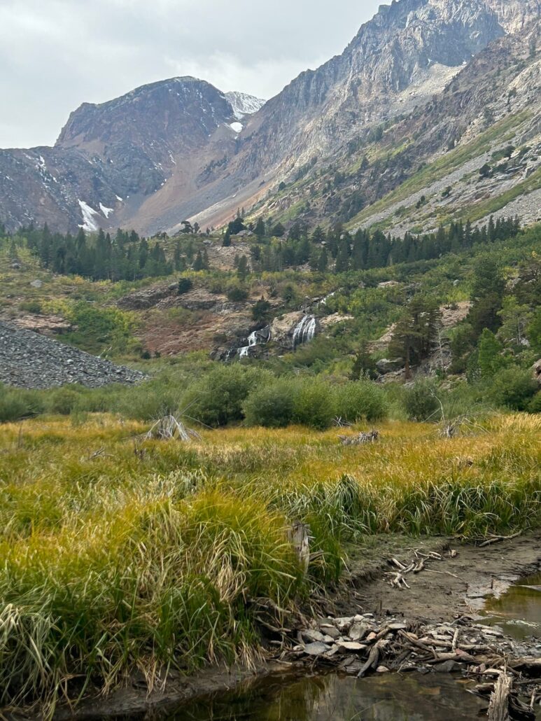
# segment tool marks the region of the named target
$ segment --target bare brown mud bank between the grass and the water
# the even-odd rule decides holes
[[[441,560],[427,563],[422,572],[409,573],[405,577],[409,588],[390,585],[397,572],[390,559],[407,565],[415,554],[423,557],[431,553],[440,554]],[[390,618],[404,619],[408,624],[450,624],[463,616],[475,620],[483,598],[503,593],[517,579],[539,570],[540,562],[541,532],[485,548],[461,545],[457,539],[372,538],[364,547],[348,549],[348,574],[343,584],[327,598],[313,599],[311,611],[313,616],[373,614],[374,622],[379,623]],[[296,633],[291,637],[291,647],[302,640]],[[269,645],[269,655],[271,648]],[[164,691],[151,694],[142,679],[134,679],[128,688],[107,699],[87,699],[75,717],[153,717],[199,696],[228,691],[276,673],[295,673],[304,664],[302,653],[297,654],[283,653],[281,648],[275,660],[260,663],[255,670],[224,667],[206,669],[189,678],[171,675]],[[278,660],[280,656],[285,663]],[[58,721],[72,717],[66,707],[56,714]]]

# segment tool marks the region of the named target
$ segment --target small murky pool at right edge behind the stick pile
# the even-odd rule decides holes
[[[500,598],[488,598],[484,613],[516,639],[541,638],[541,574],[523,578]]]

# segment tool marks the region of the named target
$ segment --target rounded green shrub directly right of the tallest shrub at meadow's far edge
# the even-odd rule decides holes
[[[248,425],[285,428],[293,418],[293,384],[281,379],[254,389],[245,400],[242,411]]]

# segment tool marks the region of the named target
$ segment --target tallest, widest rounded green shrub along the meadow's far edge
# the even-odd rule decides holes
[[[273,381],[273,375],[239,363],[217,366],[188,389],[182,398],[182,410],[188,415],[218,428],[242,420],[242,404],[252,389]]]

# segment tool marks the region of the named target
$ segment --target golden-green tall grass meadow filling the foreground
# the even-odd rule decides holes
[[[4,425],[0,438],[0,707],[135,669],[252,663],[250,599],[280,608],[337,580],[364,534],[482,536],[540,521],[541,419],[493,417],[472,435],[382,423],[336,431],[231,428],[201,441],[135,441],[146,426],[92,416]],[[137,451],[137,452],[136,452]],[[309,523],[303,578],[287,541]]]

